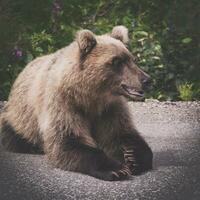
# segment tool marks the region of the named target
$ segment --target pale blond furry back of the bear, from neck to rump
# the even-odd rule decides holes
[[[75,64],[76,44],[36,58],[18,75],[6,104],[4,121],[32,143],[38,142],[39,116],[49,95]]]

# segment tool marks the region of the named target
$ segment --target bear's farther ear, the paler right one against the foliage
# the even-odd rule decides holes
[[[115,26],[112,30],[111,37],[127,45],[129,42],[128,29],[125,26]]]

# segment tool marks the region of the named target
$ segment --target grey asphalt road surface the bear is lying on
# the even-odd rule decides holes
[[[154,169],[106,182],[53,169],[44,156],[0,151],[0,200],[200,200],[200,103],[130,105]]]

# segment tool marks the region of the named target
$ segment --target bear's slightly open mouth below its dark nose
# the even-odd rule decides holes
[[[132,100],[132,101],[142,101],[144,100],[144,92],[142,90],[137,90],[134,87],[127,86],[125,84],[121,85],[123,89],[123,96]]]

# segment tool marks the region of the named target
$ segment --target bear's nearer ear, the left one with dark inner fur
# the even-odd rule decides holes
[[[81,58],[84,58],[96,45],[95,35],[89,30],[81,30],[76,35]]]

